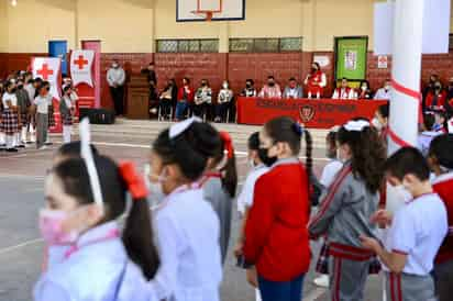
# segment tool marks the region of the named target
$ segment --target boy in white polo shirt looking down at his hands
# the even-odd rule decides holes
[[[399,149],[388,158],[385,169],[389,183],[402,186],[413,199],[394,216],[379,210],[372,218],[389,226],[384,246],[366,235],[361,236],[362,244],[384,264],[387,300],[434,301],[431,271],[449,230],[445,205],[433,192],[428,163],[418,149]]]

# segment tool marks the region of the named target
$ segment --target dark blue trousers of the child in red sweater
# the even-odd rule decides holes
[[[290,281],[275,282],[258,276],[259,293],[263,301],[300,301],[302,300],[303,277]]]

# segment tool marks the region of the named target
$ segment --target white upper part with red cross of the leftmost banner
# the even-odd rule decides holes
[[[33,57],[32,73],[34,78],[42,78],[51,83],[49,93],[54,99],[59,100],[62,59],[57,57]]]

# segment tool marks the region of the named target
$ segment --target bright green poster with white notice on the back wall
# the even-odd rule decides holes
[[[358,81],[366,77],[368,37],[335,38],[335,78]]]

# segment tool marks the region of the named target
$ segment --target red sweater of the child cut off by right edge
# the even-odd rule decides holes
[[[453,227],[453,172],[440,176],[434,180],[434,191],[441,197],[446,207],[449,228]],[[448,234],[435,257],[435,264],[453,260],[453,236]]]

